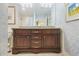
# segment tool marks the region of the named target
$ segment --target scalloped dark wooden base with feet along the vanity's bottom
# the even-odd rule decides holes
[[[61,49],[17,49],[17,48],[13,48],[12,49],[12,54],[18,54],[21,52],[32,52],[35,54],[38,54],[40,52],[54,52],[54,53],[61,53]]]

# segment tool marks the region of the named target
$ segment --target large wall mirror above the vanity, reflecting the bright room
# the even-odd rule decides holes
[[[55,3],[20,4],[22,26],[54,26]]]

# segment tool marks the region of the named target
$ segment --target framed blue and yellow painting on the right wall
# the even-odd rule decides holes
[[[66,22],[79,20],[79,3],[67,3],[66,6]]]

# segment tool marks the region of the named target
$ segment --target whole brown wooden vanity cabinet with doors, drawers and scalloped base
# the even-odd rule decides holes
[[[20,52],[61,52],[60,29],[13,29],[12,54]]]

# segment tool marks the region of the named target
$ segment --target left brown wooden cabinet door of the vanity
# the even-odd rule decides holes
[[[15,37],[14,46],[16,48],[30,48],[29,36],[18,36],[18,37]]]

